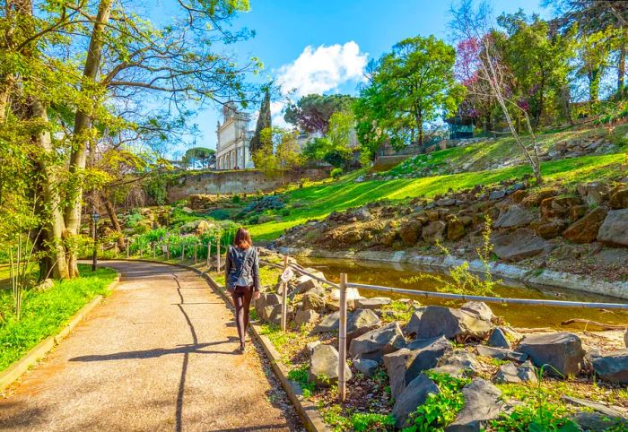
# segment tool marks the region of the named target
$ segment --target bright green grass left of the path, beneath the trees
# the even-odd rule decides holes
[[[0,289],[0,370],[4,370],[39,341],[56,334],[70,318],[97,295],[107,295],[107,286],[116,272],[79,264],[82,276],[72,281],[56,281],[44,292],[24,291],[22,317],[13,314],[10,289]]]

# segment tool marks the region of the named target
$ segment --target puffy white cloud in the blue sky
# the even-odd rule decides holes
[[[362,79],[367,56],[353,40],[345,45],[308,46],[296,60],[276,71],[277,83],[286,93],[294,91],[296,98],[335,91],[345,82]]]

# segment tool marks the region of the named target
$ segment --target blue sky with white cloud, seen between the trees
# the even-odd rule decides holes
[[[354,93],[366,61],[378,58],[397,41],[435,35],[447,40],[449,0],[250,0],[249,13],[234,26],[256,30],[254,39],[231,46],[241,58],[257,56],[265,71],[252,80],[272,77],[296,95],[309,92]],[[547,16],[539,0],[493,1],[496,14]],[[288,89],[289,90],[289,89]],[[273,106],[280,123],[279,103]],[[201,131],[196,145],[215,148],[217,108],[207,108],[193,121]],[[181,151],[182,149],[176,149]],[[183,149],[185,150],[185,149]]]

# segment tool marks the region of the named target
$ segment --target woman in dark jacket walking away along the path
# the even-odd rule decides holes
[[[249,326],[251,298],[259,298],[259,259],[249,231],[246,229],[240,228],[236,232],[233,246],[229,246],[227,251],[224,272],[224,280],[236,309],[235,319],[240,337],[240,353],[243,353],[244,337]]]

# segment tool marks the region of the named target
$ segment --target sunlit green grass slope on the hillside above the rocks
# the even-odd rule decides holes
[[[614,176],[622,164],[625,154],[605,156],[584,156],[580,158],[554,160],[542,165],[545,181],[550,183],[560,180],[563,185],[574,182],[601,180]],[[528,165],[491,171],[467,172],[437,177],[408,178],[398,180],[372,180],[355,183],[355,178],[363,170],[353,172],[336,182],[322,182],[294,189],[284,194],[287,203],[301,203],[299,208],[292,208],[288,216],[281,221],[270,221],[249,226],[255,239],[270,240],[278,238],[284,229],[299,225],[309,219],[321,219],[330,212],[342,211],[377,200],[390,200],[401,203],[417,196],[431,197],[477,185],[490,186],[509,178],[520,178],[531,174]]]

